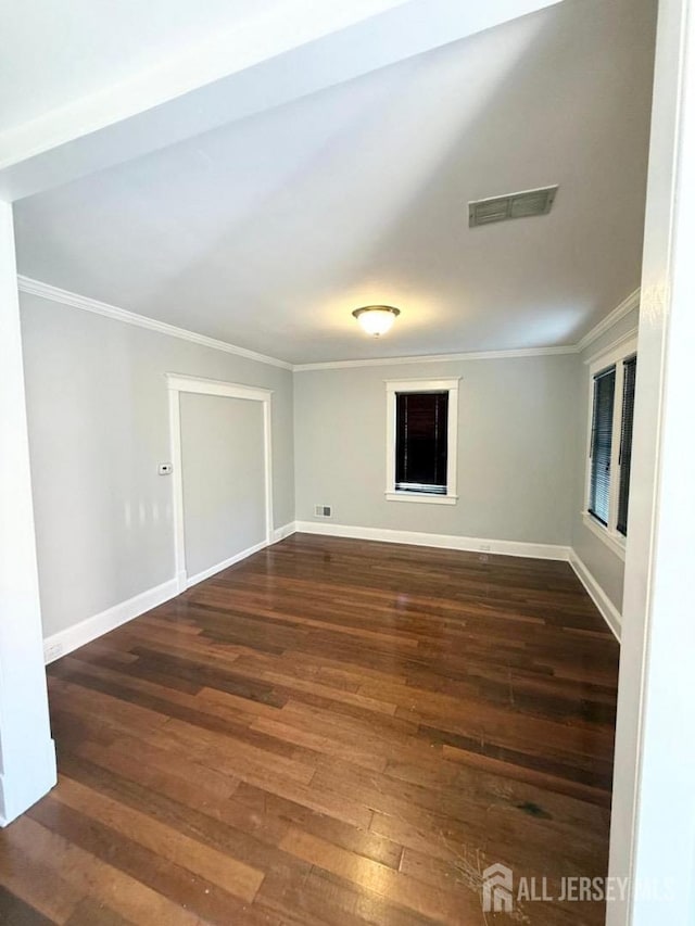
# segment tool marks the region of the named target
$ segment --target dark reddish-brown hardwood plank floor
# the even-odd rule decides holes
[[[606,874],[617,670],[567,563],[296,534],[50,667],[0,922],[601,924],[481,874]]]

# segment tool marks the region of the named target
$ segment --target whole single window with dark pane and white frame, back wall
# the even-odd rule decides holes
[[[387,399],[387,498],[454,505],[458,380],[388,380]]]

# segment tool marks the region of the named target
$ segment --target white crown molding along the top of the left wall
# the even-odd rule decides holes
[[[40,296],[51,302],[58,302],[62,305],[68,305],[72,308],[80,308],[84,312],[91,312],[94,315],[102,315],[105,318],[112,318],[115,321],[124,321],[126,325],[135,325],[138,328],[147,328],[150,331],[156,331],[160,334],[168,334],[170,338],[179,338],[181,341],[190,341],[193,344],[199,344],[202,347],[212,347],[214,351],[224,351],[227,354],[236,354],[238,357],[244,357],[248,360],[255,360],[258,364],[269,364],[273,367],[281,367],[285,370],[291,370],[292,364],[287,360],[280,360],[277,357],[268,357],[265,354],[257,354],[255,351],[248,351],[245,347],[238,347],[236,344],[228,344],[226,341],[218,341],[215,338],[207,338],[205,334],[197,334],[194,331],[189,331],[186,328],[177,328],[175,325],[167,325],[165,321],[156,321],[154,318],[147,318],[144,315],[137,315],[135,312],[128,312],[125,308],[118,308],[115,305],[110,305],[106,302],[99,302],[89,296],[78,295],[77,293],[62,290],[59,287],[53,287],[50,283],[42,283],[40,280],[33,280],[30,277],[17,276],[20,292],[28,295]]]

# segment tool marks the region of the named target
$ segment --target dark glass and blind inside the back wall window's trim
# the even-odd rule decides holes
[[[448,392],[395,396],[395,487],[446,495]]]

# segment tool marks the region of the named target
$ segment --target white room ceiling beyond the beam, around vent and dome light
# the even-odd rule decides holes
[[[20,270],[293,363],[573,343],[640,282],[655,5],[565,0],[20,201]]]

